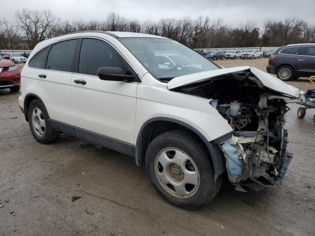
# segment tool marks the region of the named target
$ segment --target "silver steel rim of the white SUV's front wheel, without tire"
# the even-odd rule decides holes
[[[154,161],[154,172],[160,186],[170,195],[187,199],[200,186],[198,168],[191,157],[179,148],[163,148]]]

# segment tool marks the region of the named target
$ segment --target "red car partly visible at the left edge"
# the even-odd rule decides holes
[[[11,92],[20,90],[20,70],[10,60],[0,55],[0,89],[10,89]]]

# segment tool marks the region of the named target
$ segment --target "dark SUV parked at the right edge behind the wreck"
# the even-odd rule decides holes
[[[267,72],[283,81],[315,75],[315,43],[291,44],[269,57]]]

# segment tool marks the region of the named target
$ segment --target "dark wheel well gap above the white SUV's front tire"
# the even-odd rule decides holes
[[[147,123],[143,128],[141,128],[140,133],[137,138],[136,143],[136,164],[141,166],[144,163],[146,151],[150,143],[158,137],[158,135],[165,133],[170,130],[184,130],[196,137],[201,143],[205,145],[205,142],[197,135],[192,129],[184,126],[177,122],[172,122],[168,120],[156,120]],[[206,147],[206,145],[205,145]]]

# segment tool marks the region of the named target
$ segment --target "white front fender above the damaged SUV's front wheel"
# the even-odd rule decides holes
[[[197,129],[208,141],[232,131],[209,99],[173,92],[151,74],[142,78],[137,90],[135,141],[142,125],[151,118],[173,118]]]

